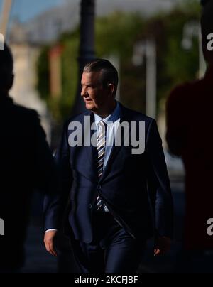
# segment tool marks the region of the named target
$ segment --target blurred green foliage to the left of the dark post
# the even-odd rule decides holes
[[[53,119],[58,123],[70,116],[75,101],[78,36],[76,33],[65,34],[59,43],[62,47],[62,94],[59,97],[53,98],[50,95],[50,47],[45,47],[41,50],[37,65],[40,97],[45,99]]]

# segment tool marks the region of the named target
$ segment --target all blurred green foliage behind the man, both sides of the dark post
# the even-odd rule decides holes
[[[113,13],[97,18],[96,53],[99,58],[116,55],[120,60],[121,102],[132,109],[145,111],[146,65],[132,63],[133,47],[139,40],[154,38],[157,45],[158,103],[167,97],[178,83],[195,79],[198,71],[198,38],[192,38],[192,48],[182,48],[183,27],[189,21],[199,21],[200,6],[195,0],[185,0],[173,11],[143,18],[137,13]],[[77,51],[79,28],[63,35],[62,95],[53,100],[49,91],[48,49],[43,48],[38,60],[38,90],[48,102],[57,121],[70,115],[77,91]],[[144,62],[145,63],[145,62]]]

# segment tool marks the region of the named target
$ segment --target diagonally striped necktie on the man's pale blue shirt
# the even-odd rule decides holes
[[[97,170],[98,170],[98,176],[99,178],[101,178],[104,171],[107,125],[102,120],[99,121],[98,126],[99,126],[99,135],[97,137]],[[102,199],[99,197],[99,195],[97,197],[97,210],[109,212],[107,206],[103,204]]]

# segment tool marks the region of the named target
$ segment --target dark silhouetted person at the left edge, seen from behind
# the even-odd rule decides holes
[[[24,241],[34,188],[53,192],[55,163],[37,112],[9,97],[13,57],[0,51],[0,272],[15,272],[24,263]]]

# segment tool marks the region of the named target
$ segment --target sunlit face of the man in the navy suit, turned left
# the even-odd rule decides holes
[[[92,112],[102,112],[114,100],[109,89],[104,89],[101,82],[101,72],[83,72],[82,92],[86,108]]]

